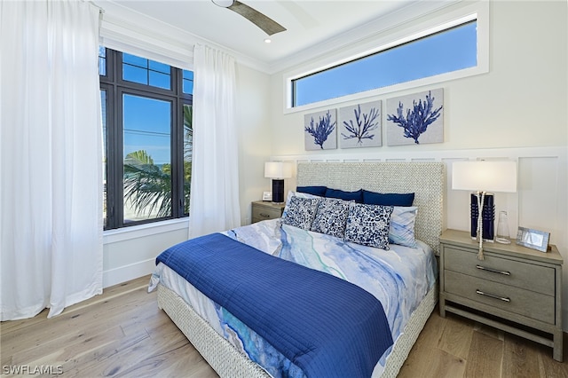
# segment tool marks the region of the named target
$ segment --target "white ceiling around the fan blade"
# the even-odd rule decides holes
[[[242,0],[244,4],[277,21],[286,31],[271,36],[240,14],[217,6],[210,0],[94,0],[101,8],[118,6],[125,11],[169,24],[206,41],[273,65],[321,44],[334,41],[339,45],[343,35],[352,40],[369,33],[369,26],[379,20],[400,18],[409,9],[433,0]],[[443,4],[445,1],[437,1]],[[371,28],[372,29],[372,28]],[[343,38],[344,39],[344,38]]]

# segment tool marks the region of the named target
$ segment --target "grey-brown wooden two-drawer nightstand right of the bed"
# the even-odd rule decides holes
[[[440,236],[440,316],[446,311],[553,348],[562,362],[562,256],[511,244],[484,243],[469,232]]]

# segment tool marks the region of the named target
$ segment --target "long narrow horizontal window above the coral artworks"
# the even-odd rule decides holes
[[[291,106],[409,83],[477,67],[477,19],[390,43],[352,59],[291,80]]]

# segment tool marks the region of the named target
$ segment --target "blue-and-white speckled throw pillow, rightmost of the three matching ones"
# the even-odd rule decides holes
[[[388,250],[392,209],[391,206],[351,203],[344,240]]]

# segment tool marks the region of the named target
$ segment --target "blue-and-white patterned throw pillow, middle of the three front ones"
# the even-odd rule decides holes
[[[313,218],[311,231],[343,239],[349,204],[348,201],[322,198],[319,201],[316,216]]]

